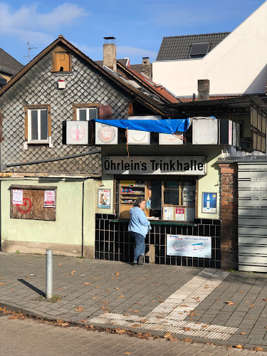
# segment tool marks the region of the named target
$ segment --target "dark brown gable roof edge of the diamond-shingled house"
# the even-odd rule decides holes
[[[119,85],[120,88],[125,90],[128,94],[132,95],[134,97],[134,100],[148,108],[149,110],[152,110],[152,112],[157,112],[159,115],[165,115],[167,114],[166,110],[163,110],[162,105],[160,103],[151,98],[149,95],[146,95],[145,93],[140,92],[137,88],[133,87],[130,85],[130,83],[125,83],[125,80],[122,80],[120,78],[117,78],[115,75],[112,75],[105,69],[103,69],[101,66],[98,66],[97,63],[95,63],[92,59],[90,59],[88,56],[86,56],[82,51],[80,51],[78,48],[73,46],[72,43],[70,43],[66,38],[63,36],[58,36],[58,38],[53,41],[48,47],[46,47],[41,53],[38,54],[33,60],[28,63],[18,74],[12,78],[9,83],[4,85],[4,87],[0,90],[0,96],[6,93],[9,88],[11,88],[14,83],[16,83],[21,77],[23,77],[24,74],[28,72],[33,66],[41,60],[44,56],[46,56],[47,53],[53,50],[56,46],[63,44],[70,48],[71,51],[75,52],[78,56],[83,58],[87,63],[90,64],[90,66],[93,66],[95,69],[97,69],[100,73],[105,75],[105,77],[109,78],[114,82],[115,84]]]

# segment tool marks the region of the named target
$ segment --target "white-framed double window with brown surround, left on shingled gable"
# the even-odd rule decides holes
[[[25,136],[29,144],[49,143],[50,112],[50,105],[28,105],[26,107]]]

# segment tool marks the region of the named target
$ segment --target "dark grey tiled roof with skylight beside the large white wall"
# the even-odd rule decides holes
[[[172,61],[189,58],[193,43],[209,42],[209,51],[217,46],[230,32],[204,33],[200,35],[163,37],[156,61]]]

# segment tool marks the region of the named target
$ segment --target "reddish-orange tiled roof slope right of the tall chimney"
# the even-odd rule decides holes
[[[157,85],[156,83],[153,83],[152,80],[145,77],[145,75],[137,73],[137,71],[133,70],[132,68],[128,68],[126,66],[123,66],[121,63],[117,63],[117,70],[120,70],[122,74],[126,76],[126,78],[132,78],[136,80],[137,83],[140,83],[143,88],[147,88],[147,90],[150,90],[165,103],[179,103],[179,100],[177,100],[174,95],[169,93],[169,91],[167,91],[166,88],[164,88],[162,85]]]

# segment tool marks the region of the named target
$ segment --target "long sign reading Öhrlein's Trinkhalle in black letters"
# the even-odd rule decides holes
[[[205,156],[103,157],[103,174],[206,174]]]

